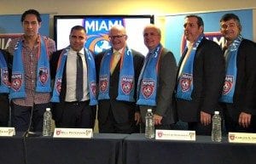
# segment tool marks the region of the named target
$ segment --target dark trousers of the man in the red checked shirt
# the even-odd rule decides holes
[[[50,103],[38,104],[33,106],[20,106],[15,105],[11,101],[11,123],[16,131],[25,132],[30,130],[32,132],[42,132],[44,122],[44,111],[46,108],[51,107]],[[30,118],[32,116],[31,127]]]

